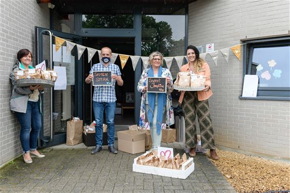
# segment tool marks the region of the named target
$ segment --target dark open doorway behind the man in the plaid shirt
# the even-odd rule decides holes
[[[86,47],[101,50],[102,47],[109,47],[113,53],[135,55],[135,39],[133,37],[88,37],[83,40],[82,44]],[[87,62],[87,56],[84,57],[84,77],[89,75],[90,69],[95,63],[99,63],[99,56],[95,54],[90,63]],[[121,68],[120,58],[117,57],[114,61],[115,65],[119,66],[121,71],[121,77],[124,81],[122,87],[116,84],[116,111],[115,111],[115,125],[116,128],[124,125],[128,128],[128,125],[134,124],[134,91],[135,91],[135,72],[132,67],[132,61],[129,58],[125,67]],[[92,97],[94,87],[91,84],[84,85],[84,122],[90,124],[94,120]],[[104,116],[104,123],[106,123]],[[125,126],[126,125],[126,126]]]

